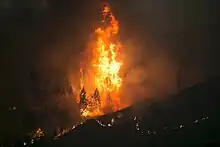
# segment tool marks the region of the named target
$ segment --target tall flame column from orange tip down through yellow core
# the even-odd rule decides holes
[[[107,27],[95,30],[97,34],[97,47],[93,50],[93,67],[96,69],[95,85],[101,92],[113,92],[122,84],[119,76],[122,62],[116,59],[121,45],[112,41],[118,34],[119,23],[108,6],[104,7],[103,18],[102,22],[107,24]],[[109,19],[110,22],[107,22]]]

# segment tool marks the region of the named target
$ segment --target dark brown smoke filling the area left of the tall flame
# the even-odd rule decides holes
[[[1,11],[2,134],[13,134],[16,126],[27,132],[47,128],[51,135],[56,126],[70,126],[78,120],[76,96],[67,94],[69,82],[78,83],[78,78],[69,75],[78,72],[80,53],[99,19],[98,6],[90,1],[53,0],[41,13],[23,7]],[[17,109],[11,116],[8,108],[14,106]]]

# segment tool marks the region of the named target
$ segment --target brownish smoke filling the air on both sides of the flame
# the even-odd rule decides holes
[[[214,0],[109,1],[120,22],[120,41],[124,45],[123,100],[136,102],[169,95],[210,75],[219,75],[217,7],[211,4]],[[50,92],[56,89],[53,87],[62,89],[69,83],[78,88],[79,65],[85,60],[81,52],[87,49],[88,34],[99,22],[100,9],[96,0],[51,3],[48,3],[51,9],[42,13],[13,10],[8,14],[10,19],[1,24],[4,35],[1,63],[6,67],[1,76],[5,97],[2,106],[5,111],[12,104],[17,106],[22,109],[21,117],[25,115],[23,110],[50,109],[42,116],[44,121],[38,120],[49,125],[68,122],[59,119],[64,114],[56,112],[54,106],[68,112],[71,121],[78,117],[74,96]],[[10,96],[11,93],[15,95]],[[4,118],[1,126],[18,122]]]

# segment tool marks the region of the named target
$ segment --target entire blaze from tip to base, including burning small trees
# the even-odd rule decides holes
[[[98,95],[94,93],[93,96],[87,96],[85,95],[85,89],[84,93],[81,92],[81,100],[84,101],[82,103],[86,105],[81,107],[82,116],[84,117],[102,115],[104,113],[103,109],[106,107],[111,107],[113,111],[122,107],[118,96],[123,82],[120,77],[123,62],[119,56],[122,45],[117,41],[119,23],[108,5],[103,8],[102,18],[102,27],[95,30],[96,43],[92,50],[93,59],[91,61],[92,79]],[[84,87],[82,82],[84,81],[84,74],[82,71],[81,69],[81,88]],[[99,95],[100,101],[97,102],[97,96]]]

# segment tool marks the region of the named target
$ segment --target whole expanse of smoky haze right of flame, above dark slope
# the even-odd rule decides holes
[[[210,70],[219,46],[213,2],[110,1],[125,44],[125,99],[167,96],[219,73]]]

